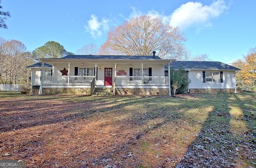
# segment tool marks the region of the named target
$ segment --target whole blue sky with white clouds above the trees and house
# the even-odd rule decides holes
[[[0,37],[17,39],[29,51],[56,41],[76,53],[84,44],[103,44],[107,31],[141,14],[179,26],[192,55],[231,63],[256,47],[255,0],[65,1],[2,0],[11,13]]]

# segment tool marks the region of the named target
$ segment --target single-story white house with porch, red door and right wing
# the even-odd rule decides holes
[[[166,66],[167,65],[167,66]],[[188,92],[236,92],[238,68],[215,61],[175,61],[153,55],[67,55],[41,58],[31,69],[39,94],[170,95],[171,70],[188,71]]]

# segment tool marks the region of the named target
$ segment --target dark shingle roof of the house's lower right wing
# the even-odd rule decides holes
[[[172,69],[179,69],[180,67],[184,69],[240,70],[219,61],[174,61],[171,63]]]

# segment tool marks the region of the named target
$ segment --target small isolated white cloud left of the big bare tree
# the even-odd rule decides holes
[[[85,26],[85,31],[89,32],[93,38],[100,37],[102,35],[102,31],[107,31],[109,29],[109,20],[101,19],[94,14],[91,15],[91,18],[87,21],[87,25]]]

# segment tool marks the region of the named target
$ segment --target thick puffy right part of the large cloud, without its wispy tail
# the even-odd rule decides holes
[[[200,2],[188,2],[174,10],[170,25],[186,29],[188,27],[205,27],[212,25],[211,19],[219,17],[228,7],[223,0],[214,1],[211,5]]]

